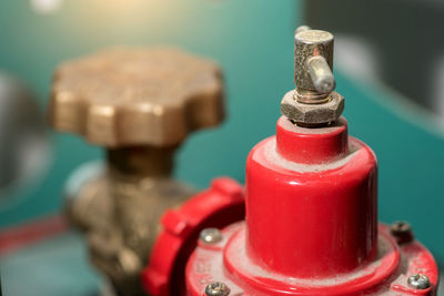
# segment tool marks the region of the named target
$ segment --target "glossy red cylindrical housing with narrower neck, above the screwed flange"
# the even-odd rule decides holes
[[[296,127],[246,161],[246,251],[263,268],[295,277],[345,273],[376,251],[376,157],[339,126]]]

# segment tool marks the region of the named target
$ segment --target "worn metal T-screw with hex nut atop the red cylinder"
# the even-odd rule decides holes
[[[333,34],[302,25],[294,34],[295,90],[284,96],[281,113],[303,126],[335,123],[344,110],[344,98],[333,92]]]

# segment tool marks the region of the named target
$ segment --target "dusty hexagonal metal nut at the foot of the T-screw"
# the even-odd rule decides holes
[[[294,92],[287,92],[281,102],[281,113],[295,123],[324,124],[337,121],[344,111],[344,98],[332,92],[323,104],[305,104],[294,99]]]

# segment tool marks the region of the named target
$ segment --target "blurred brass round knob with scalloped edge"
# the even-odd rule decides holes
[[[169,146],[216,125],[222,106],[216,63],[176,49],[115,48],[57,69],[49,118],[98,145]]]

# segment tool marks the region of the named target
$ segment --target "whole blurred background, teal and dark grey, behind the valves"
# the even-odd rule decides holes
[[[336,37],[350,132],[379,157],[380,220],[408,221],[443,263],[443,17],[444,2],[434,0],[2,1],[0,233],[60,223],[70,173],[102,157],[47,124],[60,62],[117,44],[172,44],[216,60],[226,120],[190,136],[176,157],[175,176],[203,188],[219,175],[243,182],[250,149],[274,133],[281,98],[294,88],[293,32],[306,23]],[[81,238],[56,229],[26,245],[0,235],[4,295],[95,295],[100,278]]]

